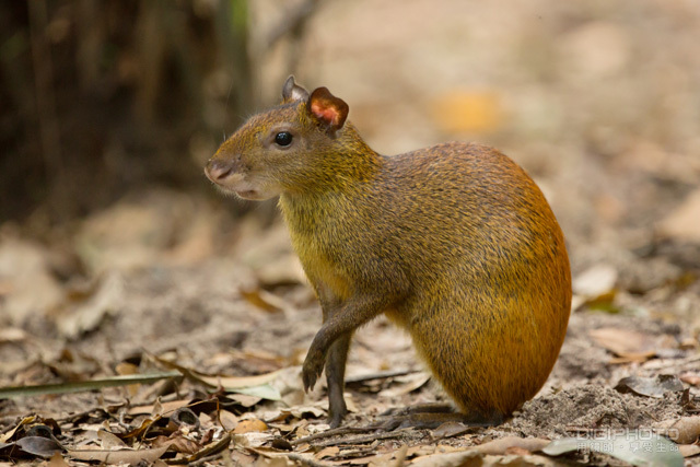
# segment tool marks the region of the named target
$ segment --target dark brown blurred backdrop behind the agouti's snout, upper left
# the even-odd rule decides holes
[[[314,4],[284,4],[264,48],[298,40]],[[0,3],[0,220],[206,186],[203,154],[259,104],[248,27],[246,0]]]

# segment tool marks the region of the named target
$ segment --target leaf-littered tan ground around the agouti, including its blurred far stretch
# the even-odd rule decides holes
[[[361,431],[388,408],[444,400],[410,339],[381,318],[358,332],[348,365],[357,430],[307,437],[328,428],[325,389],[304,394],[299,366],[320,311],[284,226],[270,206],[235,219],[235,200],[153,188],[66,227],[40,213],[0,226],[0,386],[57,385],[2,397],[0,456],[627,465],[605,446],[541,448],[626,433],[631,450],[658,452],[653,429],[700,465],[697,3],[432,5],[323,8],[298,78],[343,97],[381,152],[477,140],[540,184],[567,235],[574,305],[537,397],[495,428]],[[285,72],[269,68],[271,95]]]

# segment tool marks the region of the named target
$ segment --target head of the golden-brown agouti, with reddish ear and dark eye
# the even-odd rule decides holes
[[[290,77],[282,103],[250,117],[208,161],[205,173],[226,192],[264,200],[323,184],[348,130],[348,104],[328,89],[306,91]],[[346,131],[347,130],[347,131]]]

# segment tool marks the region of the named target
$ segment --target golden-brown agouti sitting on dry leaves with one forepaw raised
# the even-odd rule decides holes
[[[325,366],[340,424],[352,334],[384,313],[466,421],[502,422],[544,385],[570,314],[564,238],[537,185],[474,143],[377,154],[326,87],[310,94],[290,77],[282,98],[229,138],[206,174],[241,198],[280,196],[323,308],[305,389]]]

